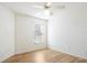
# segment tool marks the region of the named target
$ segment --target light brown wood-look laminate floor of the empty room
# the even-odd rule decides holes
[[[14,55],[3,63],[87,63],[87,59],[53,50],[40,50]]]

